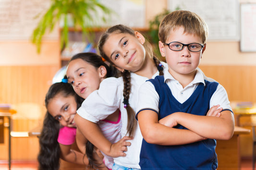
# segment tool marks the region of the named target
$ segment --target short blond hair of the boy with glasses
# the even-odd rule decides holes
[[[158,37],[161,42],[166,42],[170,32],[178,27],[183,27],[184,32],[201,37],[203,44],[207,40],[208,27],[206,22],[191,11],[173,11],[166,15],[159,25]]]

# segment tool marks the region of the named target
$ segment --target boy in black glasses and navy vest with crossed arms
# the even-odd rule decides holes
[[[218,167],[216,139],[232,137],[234,117],[224,87],[196,71],[207,33],[206,23],[190,11],[173,11],[160,23],[159,49],[169,70],[139,90],[142,170]]]

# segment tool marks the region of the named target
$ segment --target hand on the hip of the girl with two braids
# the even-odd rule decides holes
[[[127,142],[126,140],[132,140],[133,137],[123,137],[116,143],[113,143],[110,147],[110,157],[125,157],[126,154],[124,151],[127,151],[127,146],[131,146],[131,142]]]

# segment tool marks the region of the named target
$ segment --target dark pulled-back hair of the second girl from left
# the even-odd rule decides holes
[[[103,60],[102,57],[99,56],[96,53],[78,53],[75,54],[70,61],[68,62],[68,64],[76,59],[82,59],[85,62],[93,65],[95,68],[99,68],[101,65],[103,65],[106,70],[107,70],[107,75],[106,77],[119,77],[120,76],[120,72],[112,66],[112,64],[106,64]],[[68,65],[67,64],[67,65]],[[89,164],[92,168],[100,168],[100,165],[96,162],[96,160],[93,158],[93,152],[94,152],[94,145],[90,142],[87,141],[86,143],[86,149],[85,149],[85,154],[89,160]]]

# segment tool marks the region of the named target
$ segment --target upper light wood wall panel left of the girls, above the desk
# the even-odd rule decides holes
[[[58,69],[55,65],[0,66],[0,103],[42,105]]]

